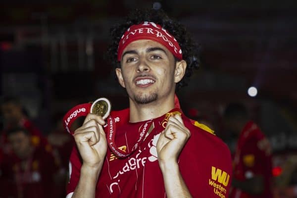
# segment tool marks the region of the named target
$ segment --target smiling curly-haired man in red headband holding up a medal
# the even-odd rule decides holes
[[[161,10],[136,10],[111,35],[130,108],[106,121],[90,113],[75,131],[67,198],[228,197],[229,149],[175,103],[175,88],[198,67],[185,28]]]

